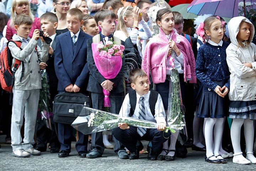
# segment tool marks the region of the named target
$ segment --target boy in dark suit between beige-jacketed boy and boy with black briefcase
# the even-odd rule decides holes
[[[46,69],[49,76],[49,85],[50,85],[50,104],[52,104],[54,97],[58,94],[58,78],[55,74],[54,69],[54,51],[56,47],[56,29],[58,27],[58,18],[52,12],[47,12],[40,17],[41,30],[47,32],[49,37],[52,39],[50,43],[50,49],[48,53],[48,61],[46,63],[40,62],[40,69]],[[37,40],[38,46],[41,48],[41,41]],[[52,107],[52,106],[51,106]],[[55,126],[52,130],[48,129],[42,124],[36,124],[36,138],[37,145],[35,149],[43,152],[47,149],[48,138],[50,140],[50,153],[58,153],[60,144],[58,140],[57,133],[57,124],[52,120],[51,123]]]

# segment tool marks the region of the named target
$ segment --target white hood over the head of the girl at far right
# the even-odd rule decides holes
[[[245,18],[243,16],[234,17],[229,21],[228,31],[229,31],[229,38],[230,38],[231,43],[235,44],[236,46],[238,46],[238,41],[236,39],[236,36],[238,35],[239,26],[242,21],[250,23],[250,36],[249,36],[250,42],[252,41],[252,39],[254,37],[254,26],[252,25],[250,20],[248,20],[247,18]]]

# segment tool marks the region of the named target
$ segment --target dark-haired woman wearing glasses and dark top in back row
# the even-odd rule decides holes
[[[53,0],[54,12],[56,12],[56,16],[58,18],[56,36],[68,31],[68,28],[66,26],[66,14],[70,8],[70,5],[71,0]]]

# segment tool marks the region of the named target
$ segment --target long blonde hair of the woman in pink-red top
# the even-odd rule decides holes
[[[32,14],[31,10],[30,10],[30,4],[28,2],[28,0],[12,0],[11,3],[11,21],[10,21],[10,27],[14,27],[14,18],[17,16],[16,12],[15,12],[15,6],[17,4],[22,4],[22,3],[28,3],[28,16],[31,17],[32,21],[34,22],[34,15]]]

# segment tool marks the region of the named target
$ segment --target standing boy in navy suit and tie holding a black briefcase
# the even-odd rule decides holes
[[[68,32],[57,36],[54,66],[58,82],[58,91],[79,92],[86,91],[88,81],[87,39],[91,36],[82,32],[83,14],[79,9],[70,9],[66,15]],[[75,94],[74,94],[75,96]],[[58,123],[60,142],[59,157],[66,157],[71,150],[73,127],[69,124]],[[79,132],[76,150],[79,157],[86,157],[88,135]]]

